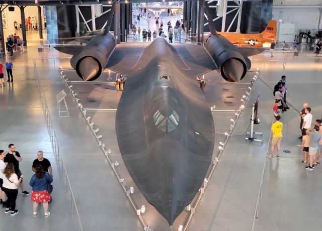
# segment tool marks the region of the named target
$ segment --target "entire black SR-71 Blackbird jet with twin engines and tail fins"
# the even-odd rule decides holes
[[[218,70],[239,81],[251,67],[247,56],[263,51],[237,48],[210,26],[203,46],[163,38],[116,45],[108,25],[84,49],[56,48],[73,55],[71,66],[86,81],[105,68],[127,76],[116,111],[120,152],[136,186],[171,226],[201,187],[214,148],[213,117],[196,76]]]

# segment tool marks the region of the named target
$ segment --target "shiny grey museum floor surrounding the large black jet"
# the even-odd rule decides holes
[[[38,216],[34,218],[30,196],[22,195],[19,191],[17,198],[19,213],[14,217],[4,212],[0,213],[0,223],[14,230],[78,230],[74,208],[74,215],[71,215],[70,192],[67,190],[66,194],[65,175],[61,164],[54,157],[41,107],[38,83],[34,75],[33,59],[37,59],[35,60],[37,71],[40,73],[41,85],[64,156],[64,164],[83,230],[143,230],[136,211],[133,210],[81,110],[59,75],[59,66],[67,68],[69,63],[68,58],[57,58],[69,56],[53,49],[38,52],[40,43],[38,32],[27,34],[28,48],[12,56],[14,82],[10,84],[5,82],[6,86],[0,88],[0,148],[7,151],[9,143],[16,145],[17,151],[23,157],[20,167],[25,175],[25,186],[28,191],[31,191],[28,183],[32,175],[32,161],[36,159],[38,150],[44,151],[54,170],[53,202],[49,206],[51,215],[48,218],[43,217],[42,208],[38,209]],[[2,58],[2,63],[4,62],[5,58]],[[282,150],[290,153],[282,152],[280,159],[274,157],[267,162],[259,203],[259,218],[255,220],[254,230],[320,229],[322,181],[318,179],[322,176],[322,167],[316,166],[314,171],[305,170],[305,165],[301,163],[302,151],[296,145],[299,144],[298,111],[302,109],[302,103],[309,102],[313,119],[320,119],[322,114],[321,63],[321,57],[315,57],[305,48],[300,51],[298,57],[287,53],[276,53],[273,58],[270,58],[268,53],[253,57],[253,68],[259,67],[262,72],[233,133],[243,133],[249,123],[252,103],[260,94],[258,116],[261,123],[255,126],[255,132],[264,133],[264,144],[245,142],[245,136],[230,137],[186,230],[251,230],[273,120],[272,87],[282,74],[287,76],[287,99],[291,108],[282,114],[281,121],[284,123]],[[73,71],[64,73],[70,78],[69,80],[76,80]],[[252,72],[244,82],[249,81],[251,75]],[[84,107],[116,108],[121,92],[117,92],[113,84],[107,82],[113,80],[113,76],[115,76],[113,73],[107,71],[97,80],[106,83],[71,82],[69,85],[73,85],[79,102]],[[211,72],[205,78],[211,82],[223,82],[217,72]],[[5,80],[7,80],[6,74]],[[240,97],[245,94],[247,88],[248,85],[208,84],[205,96],[209,106],[215,104],[216,109],[235,109],[239,107]],[[55,98],[62,89],[67,92],[66,102],[70,113],[70,117],[65,118],[58,117]],[[234,113],[213,112],[218,132],[214,153],[218,152],[218,142],[224,140],[224,136],[219,133],[229,129],[230,118],[235,118]],[[115,111],[93,110],[88,111],[87,115],[91,116],[91,121],[100,128],[98,134],[103,135],[101,141],[112,149],[111,158],[121,163],[114,134]],[[118,168],[121,172],[125,171],[122,164]],[[135,190],[133,196],[139,197],[139,195]],[[135,199],[144,201],[144,198]],[[148,204],[145,206],[143,217],[154,231],[170,230],[166,221],[154,213],[152,206]],[[183,218],[179,220],[181,222]],[[174,230],[178,229],[178,222],[175,223]]]

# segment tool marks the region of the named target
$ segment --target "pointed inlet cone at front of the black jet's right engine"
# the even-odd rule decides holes
[[[244,65],[237,59],[225,61],[222,70],[229,82],[238,82],[244,77]]]

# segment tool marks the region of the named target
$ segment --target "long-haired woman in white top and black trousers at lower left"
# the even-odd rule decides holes
[[[15,168],[13,163],[9,163],[4,172],[4,190],[7,194],[7,203],[6,203],[6,211],[5,213],[11,212],[11,215],[14,216],[18,213],[18,209],[16,209],[16,199],[18,195],[18,185],[21,183],[23,179],[23,175],[18,179],[17,174],[15,173]]]

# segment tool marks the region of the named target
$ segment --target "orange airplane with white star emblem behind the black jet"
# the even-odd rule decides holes
[[[276,20],[271,20],[265,30],[259,34],[239,34],[229,32],[217,32],[217,34],[222,35],[234,45],[269,47],[272,41],[276,42],[276,32],[277,22]]]

